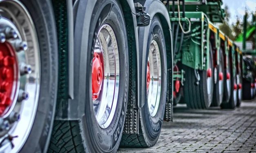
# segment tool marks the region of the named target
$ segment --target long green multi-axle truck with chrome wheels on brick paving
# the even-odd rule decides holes
[[[239,106],[242,52],[214,24],[221,5],[0,0],[0,152],[151,147],[174,101]]]

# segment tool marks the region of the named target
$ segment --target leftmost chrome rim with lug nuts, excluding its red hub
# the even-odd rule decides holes
[[[12,90],[12,104],[0,117],[0,124],[4,125],[0,132],[0,141],[3,141],[0,151],[12,149],[12,152],[18,152],[26,142],[36,116],[40,89],[40,51],[31,16],[21,2],[0,0],[0,14],[0,31],[6,37],[4,43],[10,44],[15,51],[13,57],[17,64],[17,85]],[[6,28],[10,28],[12,33],[4,32]],[[6,139],[8,136],[14,136],[13,148]]]

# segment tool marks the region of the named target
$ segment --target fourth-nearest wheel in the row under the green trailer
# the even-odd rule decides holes
[[[229,66],[232,68],[231,72],[231,94],[230,94],[230,99],[228,103],[222,103],[220,105],[221,108],[223,109],[234,109],[237,104],[237,89],[234,89],[234,86],[237,85],[236,83],[236,67],[232,65],[232,55],[229,55]]]

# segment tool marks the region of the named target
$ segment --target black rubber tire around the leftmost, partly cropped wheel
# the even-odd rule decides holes
[[[53,127],[58,83],[58,46],[50,1],[20,0],[29,11],[40,48],[40,92],[36,117],[20,153],[46,152]],[[21,116],[22,118],[22,116]]]

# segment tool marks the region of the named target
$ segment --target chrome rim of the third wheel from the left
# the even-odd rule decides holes
[[[161,94],[161,59],[160,50],[155,40],[151,42],[149,47],[148,64],[147,71],[150,72],[150,79],[147,79],[147,84],[149,84],[147,87],[147,104],[150,115],[154,117],[158,111]]]

